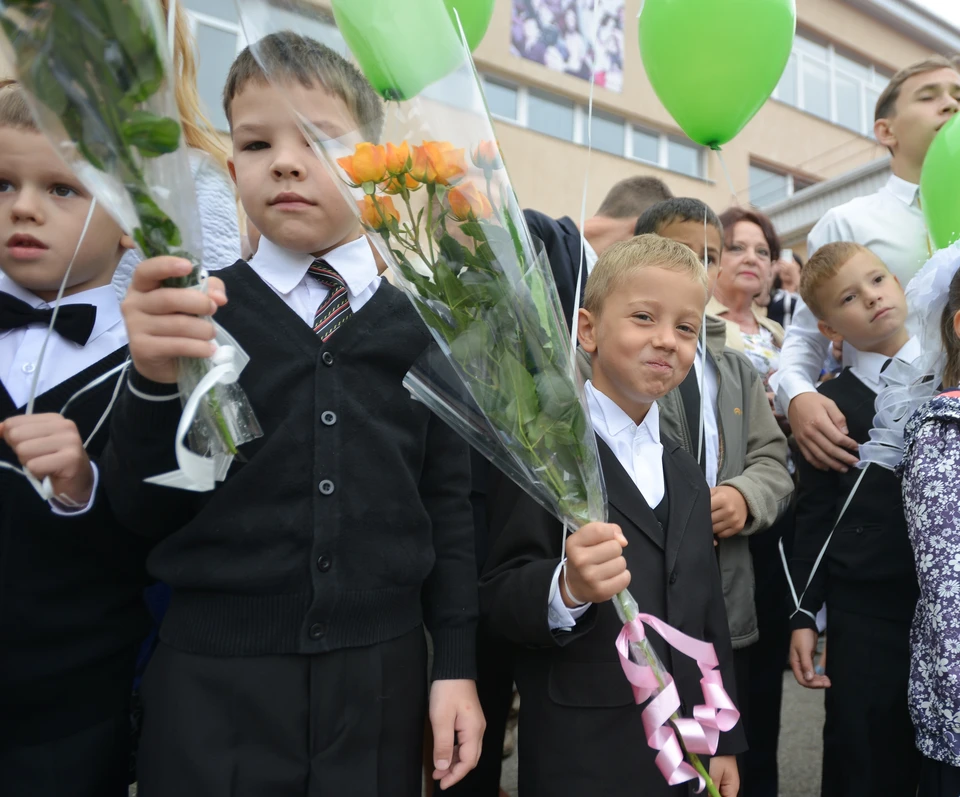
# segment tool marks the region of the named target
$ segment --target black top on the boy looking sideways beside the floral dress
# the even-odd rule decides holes
[[[858,443],[869,439],[876,393],[849,369],[824,382],[819,392],[836,402],[847,419],[850,437]],[[860,470],[819,471],[803,457],[798,458],[797,467],[800,488],[790,573],[799,597]],[[909,623],[918,594],[900,481],[892,471],[871,465],[830,540],[802,606],[816,615],[826,602],[828,609]],[[816,624],[797,612],[791,626],[814,628]]]

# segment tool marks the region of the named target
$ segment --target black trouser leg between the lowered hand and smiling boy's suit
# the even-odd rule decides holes
[[[513,645],[489,631],[481,622],[477,630],[477,694],[487,729],[483,733],[480,762],[447,797],[497,797],[503,763],[503,737],[513,702]],[[439,794],[439,789],[435,794]]]

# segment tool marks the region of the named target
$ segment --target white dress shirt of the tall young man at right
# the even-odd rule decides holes
[[[853,241],[869,248],[905,288],[932,252],[920,210],[919,186],[892,175],[875,194],[827,211],[807,237],[807,255],[835,241]],[[914,328],[912,319],[908,325]],[[770,379],[781,411],[786,413],[798,394],[816,390],[829,348],[830,342],[817,329],[817,319],[799,301],[783,342],[780,370]],[[855,349],[844,346],[844,365],[854,366],[856,357]]]

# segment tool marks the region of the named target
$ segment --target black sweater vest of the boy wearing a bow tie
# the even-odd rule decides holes
[[[78,390],[126,358],[126,348],[38,396],[35,412],[60,412]],[[111,378],[71,403],[86,439],[106,410]],[[23,412],[0,386],[0,418]],[[104,424],[88,446],[96,460]],[[17,464],[0,442],[0,458]],[[146,545],[113,516],[102,490],[76,517],[55,515],[23,477],[0,470],[0,742],[68,734],[129,696],[133,661],[149,620],[142,600]]]

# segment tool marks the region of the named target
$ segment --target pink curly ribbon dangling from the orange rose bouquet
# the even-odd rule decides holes
[[[673,720],[671,727],[668,724],[670,717],[680,708],[680,696],[673,676],[664,672],[661,688],[653,668],[646,663],[637,664],[630,660],[630,643],[640,643],[646,637],[644,623],[654,628],[668,645],[696,660],[703,674],[700,687],[703,690],[704,704],[694,707],[693,719],[681,717]],[[653,615],[638,614],[635,620],[624,625],[620,631],[617,637],[617,653],[623,673],[633,687],[633,698],[637,705],[655,695],[643,710],[643,728],[646,731],[647,743],[659,751],[657,767],[671,786],[689,780],[698,781],[699,794],[706,784],[697,771],[684,760],[683,749],[676,733],[680,734],[689,752],[713,755],[717,752],[720,732],[729,731],[740,719],[740,712],[724,690],[723,678],[716,669],[719,662],[713,645],[687,636]]]

